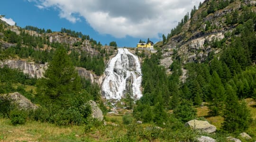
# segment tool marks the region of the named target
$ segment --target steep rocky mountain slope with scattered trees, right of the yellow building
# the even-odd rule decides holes
[[[209,54],[220,53],[230,43],[232,32],[248,19],[255,24],[255,5],[256,0],[205,0],[192,18],[183,19],[167,36],[162,46],[164,57],[176,50],[183,63],[206,61]]]

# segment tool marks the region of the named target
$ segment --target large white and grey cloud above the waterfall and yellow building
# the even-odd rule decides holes
[[[31,1],[31,0],[28,0]],[[33,0],[34,1],[34,0]],[[202,0],[37,0],[37,7],[55,8],[72,23],[86,19],[100,34],[152,38],[167,34],[176,21]]]

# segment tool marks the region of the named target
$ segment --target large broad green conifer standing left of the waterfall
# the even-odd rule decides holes
[[[58,47],[45,72],[46,79],[41,80],[38,90],[49,98],[60,98],[63,95],[78,92],[81,79],[64,47]]]

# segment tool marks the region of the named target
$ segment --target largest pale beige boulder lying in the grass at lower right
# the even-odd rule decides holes
[[[190,120],[185,124],[186,126],[190,126],[192,129],[201,130],[206,133],[214,133],[216,131],[216,126],[210,124],[207,121],[201,120]]]

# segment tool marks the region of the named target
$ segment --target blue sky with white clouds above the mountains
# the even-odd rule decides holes
[[[90,35],[101,44],[136,47],[156,43],[203,0],[1,0],[0,15],[10,25],[66,29]],[[161,38],[160,38],[161,36]]]

